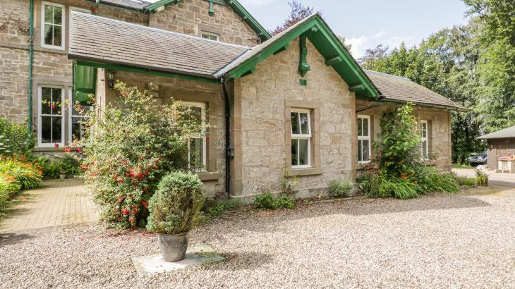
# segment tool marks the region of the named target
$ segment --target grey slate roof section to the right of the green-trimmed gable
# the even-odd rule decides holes
[[[414,104],[425,104],[443,106],[449,109],[466,111],[467,109],[460,104],[456,104],[451,99],[429,90],[408,78],[401,78],[396,75],[380,73],[373,70],[364,69],[368,78],[372,80],[375,87],[382,93],[385,100],[392,102],[413,102]]]

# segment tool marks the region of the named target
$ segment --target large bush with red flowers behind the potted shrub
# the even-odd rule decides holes
[[[117,102],[86,112],[92,129],[76,143],[84,156],[83,178],[109,227],[145,227],[148,200],[167,173],[186,168],[187,143],[207,126],[178,102],[162,104],[147,91],[114,86]],[[78,108],[80,109],[80,108]]]

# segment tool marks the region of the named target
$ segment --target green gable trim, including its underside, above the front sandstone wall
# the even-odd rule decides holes
[[[358,97],[377,99],[380,95],[379,90],[372,84],[372,81],[365,75],[358,63],[353,59],[349,51],[344,48],[341,41],[329,26],[319,16],[310,16],[308,20],[300,23],[291,30],[285,32],[280,37],[274,38],[272,44],[264,47],[259,53],[253,55],[246,61],[226,73],[226,78],[241,78],[249,70],[267,59],[277,51],[284,49],[293,39],[305,35],[310,39],[315,48],[326,59],[326,64],[332,66],[334,70],[345,80],[349,87],[353,87]],[[360,86],[361,85],[361,86]]]

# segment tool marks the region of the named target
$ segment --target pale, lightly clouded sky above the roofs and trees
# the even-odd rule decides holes
[[[291,0],[240,0],[267,30],[288,16]],[[352,54],[385,44],[420,43],[444,27],[466,23],[461,0],[303,0],[322,11],[329,26],[352,44]]]

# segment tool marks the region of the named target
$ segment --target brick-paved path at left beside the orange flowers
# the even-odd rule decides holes
[[[0,233],[97,221],[92,197],[78,179],[45,180],[13,202],[13,210],[0,221]]]

